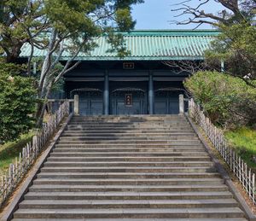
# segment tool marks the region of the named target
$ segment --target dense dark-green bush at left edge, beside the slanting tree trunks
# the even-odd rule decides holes
[[[17,76],[20,67],[0,66],[0,141],[13,141],[29,131],[35,111],[33,79]]]

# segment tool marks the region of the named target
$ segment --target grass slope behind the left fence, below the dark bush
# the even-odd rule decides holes
[[[0,175],[3,175],[9,169],[9,164],[15,162],[15,158],[19,157],[22,148],[27,142],[32,140],[34,133],[22,135],[18,141],[7,142],[0,145]]]

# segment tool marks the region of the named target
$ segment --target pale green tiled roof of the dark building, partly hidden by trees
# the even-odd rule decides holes
[[[108,53],[110,48],[106,38],[97,38],[98,47],[90,53],[79,53],[81,61],[135,61],[135,60],[195,60],[203,59],[204,51],[218,35],[215,30],[143,30],[123,32],[126,48],[131,55],[120,59],[115,53]],[[21,49],[21,57],[30,55],[31,47],[26,44]],[[45,51],[35,49],[34,56],[44,56]],[[61,60],[67,60],[70,54],[65,51]]]

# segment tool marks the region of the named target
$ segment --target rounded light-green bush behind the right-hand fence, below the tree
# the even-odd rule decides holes
[[[256,90],[243,80],[224,73],[199,72],[184,85],[216,125],[256,123]]]

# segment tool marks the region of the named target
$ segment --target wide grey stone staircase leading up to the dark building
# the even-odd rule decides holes
[[[14,219],[232,220],[244,213],[185,117],[73,117]]]

